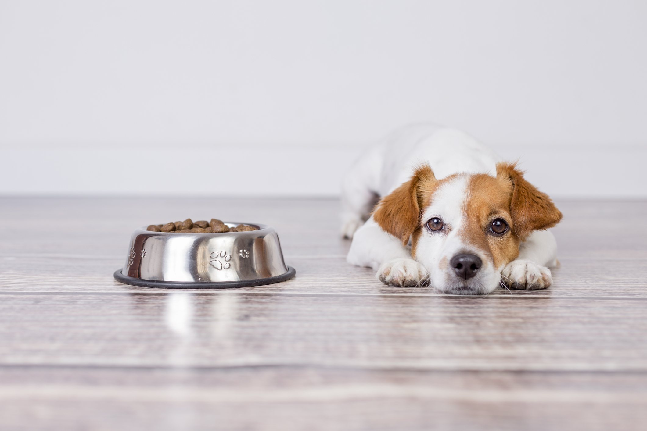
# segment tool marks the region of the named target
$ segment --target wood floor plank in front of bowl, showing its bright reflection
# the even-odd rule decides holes
[[[647,371],[646,302],[9,295],[0,364]]]

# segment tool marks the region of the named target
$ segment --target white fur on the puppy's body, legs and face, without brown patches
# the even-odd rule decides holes
[[[467,176],[443,185],[424,210],[423,218],[439,216],[446,229],[422,230],[415,260],[411,247],[402,246],[369,218],[373,198],[386,196],[408,181],[421,163],[429,163],[439,180],[455,173],[496,174],[499,156],[467,134],[435,125],[413,125],[394,132],[367,151],[345,176],[342,186],[342,235],[353,238],[347,261],[377,269],[376,277],[386,284],[413,286],[428,280],[446,293],[489,293],[503,280],[511,287],[538,289],[552,283],[546,266],[556,264],[556,242],[549,231],[534,231],[520,246],[520,256],[504,268],[494,268],[482,251],[465,244],[457,235],[463,224],[462,207],[467,197]],[[461,285],[452,281],[443,258],[473,253],[483,266],[475,277]]]

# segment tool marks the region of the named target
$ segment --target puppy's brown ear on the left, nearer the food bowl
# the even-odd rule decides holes
[[[432,168],[421,165],[411,179],[400,185],[380,202],[373,211],[373,220],[394,237],[400,238],[406,246],[409,237],[420,225],[420,209],[424,191],[436,184]]]

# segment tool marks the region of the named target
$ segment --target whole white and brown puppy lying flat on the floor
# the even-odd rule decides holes
[[[558,261],[546,229],[561,219],[516,163],[432,124],[389,135],[342,182],[347,262],[377,269],[389,286],[457,295],[548,288]]]

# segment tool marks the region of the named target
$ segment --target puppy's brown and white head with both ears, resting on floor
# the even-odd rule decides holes
[[[555,226],[562,213],[523,178],[514,163],[498,163],[496,177],[454,174],[437,180],[429,165],[384,196],[373,212],[384,231],[411,239],[411,257],[445,293],[490,293],[501,270],[536,229]]]

